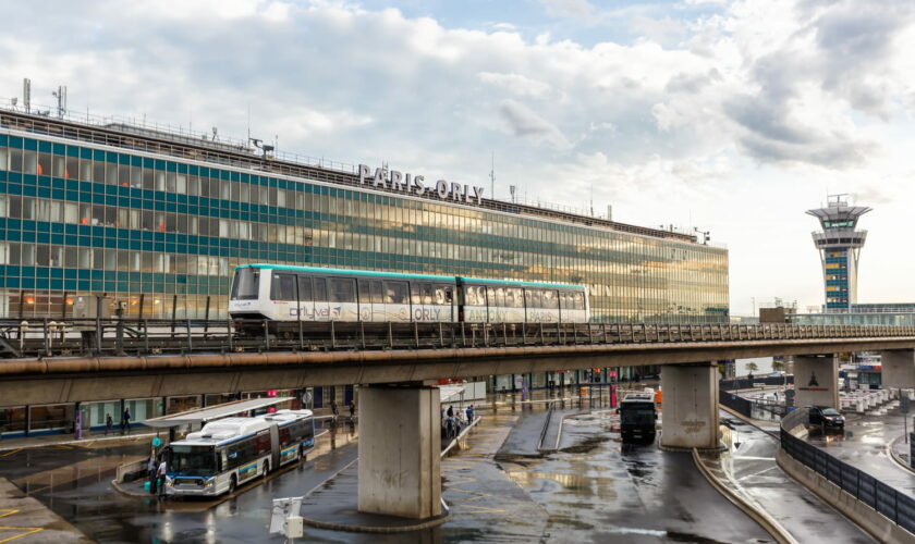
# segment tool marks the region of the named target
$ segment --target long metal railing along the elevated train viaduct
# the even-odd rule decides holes
[[[269,320],[0,320],[0,355],[419,349],[913,337],[915,326]]]

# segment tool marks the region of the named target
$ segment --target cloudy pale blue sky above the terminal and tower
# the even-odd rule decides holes
[[[915,301],[911,0],[21,2],[0,100],[427,177],[730,251],[733,314],[822,304],[830,194],[874,211],[862,302]],[[495,161],[493,161],[495,156]]]

